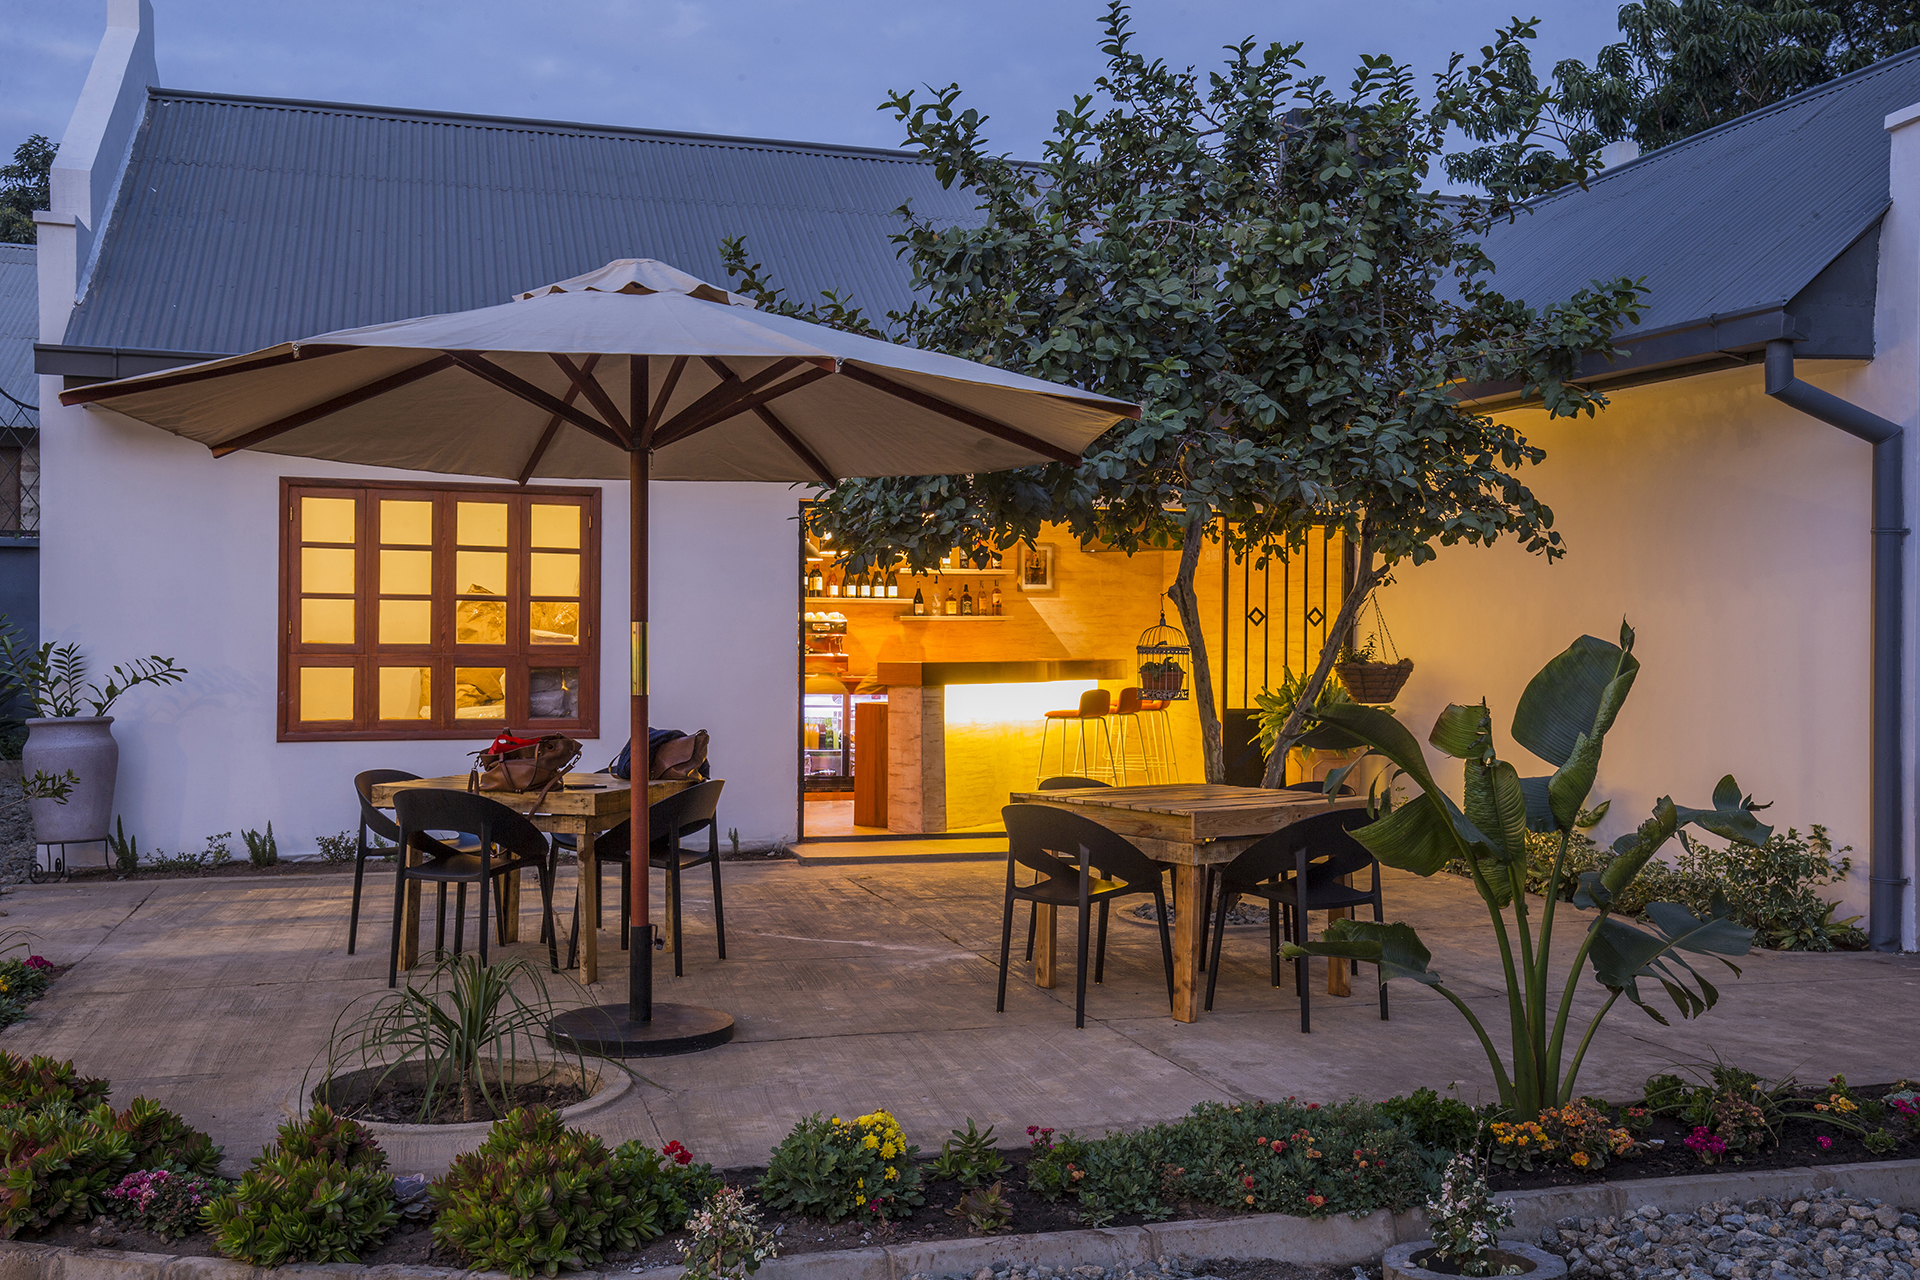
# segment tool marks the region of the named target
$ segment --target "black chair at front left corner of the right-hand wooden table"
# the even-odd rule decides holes
[[[1167,896],[1160,889],[1165,867],[1091,818],[1046,804],[1008,804],[1006,821],[1006,912],[1000,917],[1000,996],[1006,1013],[1006,961],[1014,948],[1014,902],[1025,898],[1048,906],[1079,910],[1079,950],[1075,952],[1073,1027],[1087,1025],[1087,931],[1092,908],[1100,908],[1100,940],[1094,946],[1092,981],[1106,977],[1106,913],[1114,898],[1154,894],[1160,912],[1160,960],[1167,971],[1167,1007],[1173,1007],[1173,935],[1167,933]],[[1071,862],[1068,860],[1071,858]],[[1014,867],[1039,871],[1031,885],[1014,883]],[[1094,877],[1094,871],[1100,875]]]

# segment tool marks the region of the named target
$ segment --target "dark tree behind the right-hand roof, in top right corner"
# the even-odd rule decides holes
[[[1494,92],[1461,113],[1482,146],[1448,157],[1448,177],[1513,196],[1565,186],[1609,142],[1651,152],[1920,46],[1920,0],[1644,0],[1619,25],[1592,67],[1555,63],[1551,86],[1528,50],[1538,21],[1503,29],[1480,50]]]

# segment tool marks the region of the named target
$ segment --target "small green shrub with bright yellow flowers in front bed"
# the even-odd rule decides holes
[[[925,1203],[920,1194],[920,1148],[887,1111],[854,1121],[820,1119],[812,1113],[793,1126],[766,1161],[760,1199],[810,1219],[839,1222],[851,1217],[912,1217]]]

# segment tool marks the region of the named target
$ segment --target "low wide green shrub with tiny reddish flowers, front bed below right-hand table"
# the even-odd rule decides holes
[[[1438,1186],[1450,1155],[1365,1102],[1204,1102],[1181,1121],[1131,1134],[1037,1134],[1029,1186],[1071,1194],[1094,1222],[1165,1219],[1183,1199],[1300,1217],[1409,1209]]]

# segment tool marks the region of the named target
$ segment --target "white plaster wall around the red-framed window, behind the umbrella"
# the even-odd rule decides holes
[[[357,771],[467,768],[482,743],[275,741],[278,478],[409,472],[213,461],[58,397],[58,378],[42,378],[42,639],[79,641],[96,670],[157,652],[190,672],[115,706],[115,810],[142,850],[273,819],[282,852],[311,852],[315,835],[355,825]],[[628,716],[628,486],[603,489],[601,737],[588,768],[620,748]],[[795,510],[785,486],[653,486],[653,722],[712,731],[722,827],[745,842],[793,835]]]

